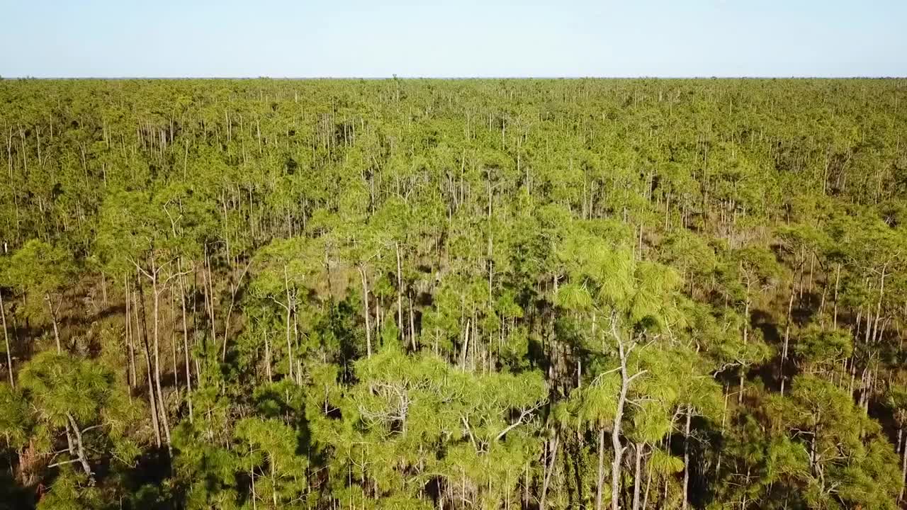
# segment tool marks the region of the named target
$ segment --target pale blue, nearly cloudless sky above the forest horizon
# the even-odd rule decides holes
[[[905,76],[907,0],[0,0],[4,77]]]

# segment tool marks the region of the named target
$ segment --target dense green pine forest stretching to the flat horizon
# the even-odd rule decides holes
[[[907,507],[907,80],[0,81],[0,507]]]

